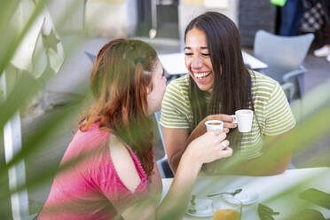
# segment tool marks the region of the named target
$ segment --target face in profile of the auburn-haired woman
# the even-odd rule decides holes
[[[149,114],[153,114],[161,110],[161,101],[166,90],[166,78],[159,60],[153,69],[152,85],[153,89],[149,90],[147,96]]]

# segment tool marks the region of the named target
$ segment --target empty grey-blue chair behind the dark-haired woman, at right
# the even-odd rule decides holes
[[[261,72],[279,82],[289,102],[303,98],[303,60],[313,39],[312,34],[280,36],[264,30],[255,34],[255,57],[268,65]]]

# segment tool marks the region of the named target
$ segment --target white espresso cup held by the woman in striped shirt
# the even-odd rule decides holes
[[[252,129],[253,111],[250,109],[240,109],[232,115],[233,123],[237,123],[240,132],[249,132]]]

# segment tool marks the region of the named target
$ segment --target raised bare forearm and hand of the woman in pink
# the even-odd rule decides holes
[[[126,220],[137,219],[137,216],[144,220],[182,219],[201,165],[232,155],[232,148],[225,138],[224,132],[213,131],[195,139],[183,153],[169,193],[161,205],[154,209],[154,202],[145,202],[143,205],[127,208],[122,216]]]

